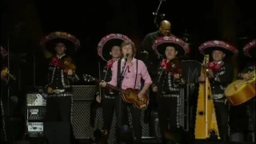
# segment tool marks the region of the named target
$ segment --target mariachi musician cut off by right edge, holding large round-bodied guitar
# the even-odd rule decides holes
[[[251,58],[250,62],[248,62],[249,66],[246,66],[244,70],[240,74],[238,74],[239,78],[249,79],[253,74],[255,74],[255,58],[256,58],[256,39],[249,42],[244,46],[243,52],[246,55],[246,57]],[[254,71],[254,72],[253,72]],[[252,119],[252,125],[253,130],[255,134],[255,97],[253,99],[250,99],[250,101],[247,103],[250,107],[250,116]],[[254,137],[255,138],[255,137]]]

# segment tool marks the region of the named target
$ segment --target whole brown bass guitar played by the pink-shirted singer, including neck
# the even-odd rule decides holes
[[[90,81],[94,81],[94,82],[98,82],[98,83],[101,82],[99,79],[94,78],[88,74],[84,74],[83,78],[86,82],[90,82]],[[136,91],[134,89],[122,90],[122,89],[118,89],[116,86],[111,86],[108,83],[106,84],[106,87],[110,88],[112,90],[117,90],[121,94],[122,100],[124,102],[132,103],[135,108],[145,109],[149,104],[148,94],[143,94],[142,99],[138,99],[137,96],[138,96],[139,91]]]

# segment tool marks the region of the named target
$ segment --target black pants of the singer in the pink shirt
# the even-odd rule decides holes
[[[134,106],[132,106],[130,104],[127,104],[123,101],[122,101],[121,110],[119,110],[118,109],[118,102],[120,102],[119,98],[121,98],[121,96],[115,98],[116,116],[117,116],[117,118],[119,118],[118,116],[121,115],[120,118],[121,118],[122,126],[126,125],[126,122],[127,122],[126,118],[129,118],[128,113],[127,113],[127,106],[129,106],[130,113],[131,113],[131,116],[132,116],[134,136],[136,138],[136,142],[139,143],[139,142],[142,141],[142,125],[141,125],[142,110],[134,108]],[[119,121],[119,119],[117,119],[117,121]],[[117,130],[120,130],[120,127],[117,127]],[[118,131],[117,131],[117,133],[118,133]],[[119,139],[118,139],[118,142],[119,142]]]

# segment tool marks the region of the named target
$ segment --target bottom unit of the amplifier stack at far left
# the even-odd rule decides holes
[[[30,137],[38,137],[43,135],[43,122],[27,122],[27,133]]]

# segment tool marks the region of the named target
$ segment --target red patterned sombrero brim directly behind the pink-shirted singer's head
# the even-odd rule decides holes
[[[126,35],[123,35],[123,34],[109,34],[109,35],[106,35],[104,38],[101,39],[100,42],[98,42],[98,55],[104,60],[104,61],[107,61],[105,58],[103,58],[103,54],[102,54],[102,51],[103,51],[103,47],[105,46],[106,42],[108,42],[109,40],[111,39],[121,39],[123,41],[130,41],[130,38],[128,38]]]

